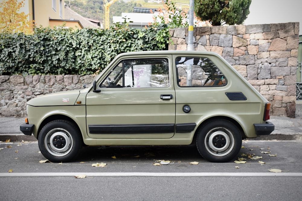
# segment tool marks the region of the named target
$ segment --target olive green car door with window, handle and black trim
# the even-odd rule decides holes
[[[175,132],[171,56],[125,58],[86,96],[91,138],[170,138]]]

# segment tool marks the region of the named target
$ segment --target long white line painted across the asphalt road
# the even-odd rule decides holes
[[[0,173],[0,177],[302,177],[301,172],[20,172]]]

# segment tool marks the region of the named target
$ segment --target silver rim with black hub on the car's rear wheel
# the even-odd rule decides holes
[[[223,127],[216,127],[207,133],[204,139],[204,145],[210,154],[214,156],[225,156],[233,150],[235,140],[230,130]]]

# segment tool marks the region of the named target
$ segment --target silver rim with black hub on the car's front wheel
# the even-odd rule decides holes
[[[64,156],[72,150],[73,138],[67,130],[55,128],[46,134],[44,144],[50,154]]]

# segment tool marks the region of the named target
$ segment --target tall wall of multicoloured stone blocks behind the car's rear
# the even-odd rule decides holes
[[[186,50],[188,28],[170,30],[169,50]],[[272,103],[295,117],[299,23],[194,27],[195,50],[216,52]]]

